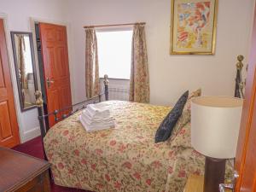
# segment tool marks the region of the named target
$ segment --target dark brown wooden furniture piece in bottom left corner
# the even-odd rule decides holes
[[[0,191],[49,192],[49,162],[0,148]]]

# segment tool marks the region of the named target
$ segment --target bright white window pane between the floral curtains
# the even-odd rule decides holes
[[[100,78],[130,79],[132,29],[97,31]]]

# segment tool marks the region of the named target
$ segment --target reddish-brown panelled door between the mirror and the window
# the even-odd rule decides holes
[[[72,105],[66,26],[39,23],[48,113]],[[67,111],[65,112],[67,113]],[[61,115],[61,113],[59,114]],[[55,125],[54,116],[49,126]]]

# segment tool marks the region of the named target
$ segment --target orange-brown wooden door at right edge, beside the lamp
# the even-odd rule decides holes
[[[245,102],[236,150],[235,169],[239,174],[236,192],[256,191],[256,12],[253,21],[252,47],[249,57]]]

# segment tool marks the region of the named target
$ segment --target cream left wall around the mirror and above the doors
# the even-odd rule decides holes
[[[30,17],[62,21],[63,9],[61,8],[61,5],[61,0],[0,0],[0,17],[7,19],[7,29],[9,31],[32,32]],[[12,47],[10,45],[9,31],[7,32],[9,41],[9,60],[15,91],[20,139],[21,142],[26,142],[40,134],[38,110],[32,109],[27,112],[20,112],[20,102],[15,79],[14,59]]]

